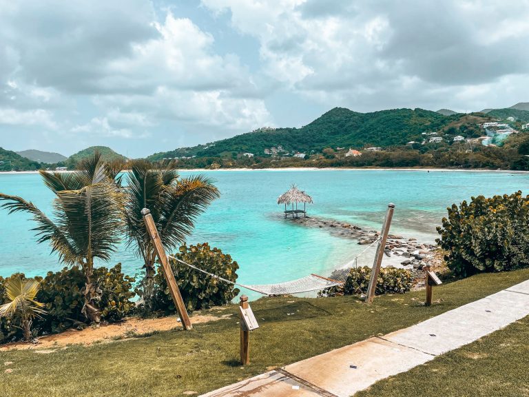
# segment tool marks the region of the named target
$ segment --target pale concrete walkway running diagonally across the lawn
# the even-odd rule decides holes
[[[528,315],[529,280],[412,327],[307,358],[203,397],[349,397]]]

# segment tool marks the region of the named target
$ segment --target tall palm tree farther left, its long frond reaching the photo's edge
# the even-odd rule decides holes
[[[48,218],[30,201],[0,193],[9,213],[25,211],[37,222],[38,243],[49,241],[52,252],[67,265],[79,266],[85,274],[83,314],[98,323],[100,291],[92,281],[94,258],[105,261],[116,250],[123,230],[123,194],[101,160],[101,155],[81,162],[74,172],[40,171],[46,186],[54,192],[54,218]],[[117,174],[117,173],[116,173]],[[114,174],[114,176],[116,175]]]

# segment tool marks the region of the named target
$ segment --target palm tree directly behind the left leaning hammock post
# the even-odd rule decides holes
[[[145,160],[131,163],[125,188],[125,223],[128,243],[136,247],[145,263],[143,298],[146,305],[153,292],[156,252],[141,210],[150,210],[163,245],[174,250],[185,243],[196,217],[219,196],[217,188],[203,175],[180,178],[174,163],[156,166]]]

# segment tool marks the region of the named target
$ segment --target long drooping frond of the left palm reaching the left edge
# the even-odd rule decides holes
[[[78,254],[76,248],[72,245],[64,231],[48,218],[48,216],[45,216],[31,201],[25,201],[19,196],[10,196],[2,193],[0,193],[0,201],[7,201],[1,207],[8,209],[10,214],[13,212],[30,213],[33,216],[33,220],[37,222],[37,227],[32,229],[39,236],[37,243],[50,241],[52,252],[57,252],[61,260],[72,263],[72,257]]]

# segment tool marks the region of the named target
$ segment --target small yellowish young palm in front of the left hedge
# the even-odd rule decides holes
[[[21,276],[8,278],[6,281],[6,298],[8,303],[0,306],[0,318],[17,318],[23,330],[24,339],[31,339],[33,318],[45,313],[43,303],[37,302],[40,289],[39,281],[33,278],[22,280]]]

